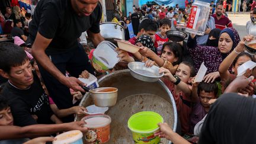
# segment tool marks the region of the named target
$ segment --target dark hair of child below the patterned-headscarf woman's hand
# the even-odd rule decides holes
[[[200,82],[197,88],[197,94],[199,95],[201,91],[214,92],[215,96],[217,96],[219,88],[217,87],[216,82],[213,82],[213,83]]]

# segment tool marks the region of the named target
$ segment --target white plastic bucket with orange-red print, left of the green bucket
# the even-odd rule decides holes
[[[84,117],[85,127],[88,132],[85,134],[85,140],[88,143],[106,143],[110,140],[111,118],[105,114],[94,114]]]

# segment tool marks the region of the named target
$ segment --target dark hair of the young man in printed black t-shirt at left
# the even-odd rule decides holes
[[[0,69],[9,73],[11,67],[24,65],[28,57],[22,47],[14,43],[0,43]]]

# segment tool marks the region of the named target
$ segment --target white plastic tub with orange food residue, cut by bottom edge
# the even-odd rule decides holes
[[[56,136],[57,140],[54,140],[53,144],[82,144],[82,137],[80,130],[71,130]]]

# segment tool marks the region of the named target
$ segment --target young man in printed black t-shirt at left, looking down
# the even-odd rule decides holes
[[[60,123],[22,47],[0,43],[0,74],[8,79],[1,94],[11,107],[16,126]],[[32,115],[37,116],[37,120]]]

